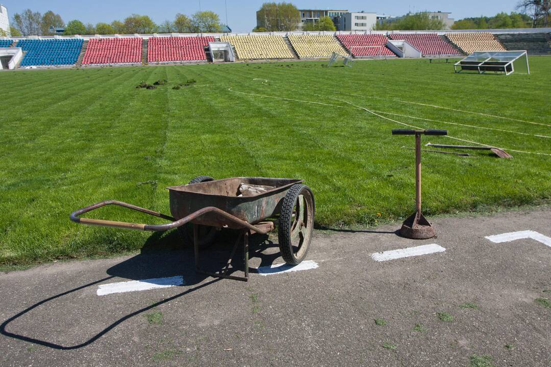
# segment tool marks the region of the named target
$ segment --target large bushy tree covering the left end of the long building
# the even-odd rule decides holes
[[[300,13],[293,4],[263,3],[256,12],[256,24],[268,31],[294,31],[300,24]]]

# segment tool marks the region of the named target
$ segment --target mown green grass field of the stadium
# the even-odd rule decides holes
[[[314,190],[319,226],[372,226],[407,216],[414,206],[414,154],[402,146],[412,147],[414,139],[392,136],[391,129],[403,126],[347,102],[514,155],[424,154],[428,216],[549,202],[551,58],[530,62],[530,76],[454,74],[452,64],[428,60],[0,73],[0,264],[155,243],[152,233],[82,226],[68,216],[106,199],[169,213],[164,188],[201,174],[304,178]],[[136,89],[159,79],[168,84]],[[191,79],[196,83],[173,89]],[[152,222],[117,209],[93,216]]]

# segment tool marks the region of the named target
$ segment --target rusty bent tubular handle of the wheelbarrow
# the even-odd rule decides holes
[[[171,223],[165,223],[165,224],[141,224],[141,223],[117,222],[117,221],[107,221],[107,220],[102,220],[102,219],[91,219],[91,218],[81,218],[80,217],[84,213],[99,209],[100,207],[106,206],[106,205],[118,205],[118,206],[126,207],[128,209],[136,210],[136,211],[139,211],[139,212],[142,212],[142,213],[153,215],[155,217],[170,220],[172,222]],[[84,207],[83,209],[75,210],[74,212],[71,213],[70,218],[73,222],[82,223],[82,224],[90,224],[92,226],[114,227],[114,228],[123,228],[123,229],[137,229],[138,231],[160,232],[160,231],[168,231],[169,229],[172,229],[172,228],[181,227],[184,224],[186,224],[188,222],[191,222],[192,220],[195,220],[197,217],[201,217],[201,216],[203,216],[203,215],[205,215],[209,212],[215,212],[220,216],[228,218],[230,221],[233,221],[235,223],[240,224],[241,227],[251,229],[251,231],[255,231],[255,232],[258,232],[258,233],[261,233],[261,234],[268,233],[268,231],[264,231],[261,228],[255,227],[252,224],[250,224],[249,222],[240,220],[239,218],[237,218],[237,217],[235,217],[235,216],[233,216],[229,213],[226,213],[225,211],[220,210],[220,209],[218,209],[217,207],[214,207],[214,206],[204,207],[202,209],[199,209],[196,212],[191,213],[187,217],[183,217],[179,220],[176,220],[175,218],[173,218],[171,216],[164,215],[162,213],[158,213],[158,212],[153,211],[153,210],[144,209],[144,208],[136,206],[136,205],[127,204],[126,202],[116,201],[116,200],[107,200],[107,201],[98,202],[97,204],[93,204],[93,205]]]

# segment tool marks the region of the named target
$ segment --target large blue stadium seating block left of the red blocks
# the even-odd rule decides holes
[[[20,40],[25,56],[20,66],[72,65],[77,62],[82,39],[63,40]]]

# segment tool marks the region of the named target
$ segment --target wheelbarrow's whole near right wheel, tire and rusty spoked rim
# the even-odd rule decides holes
[[[279,215],[279,250],[287,264],[300,264],[306,257],[316,211],[314,194],[306,185],[291,186],[283,198]]]

